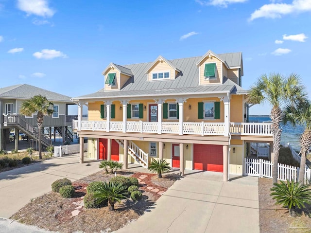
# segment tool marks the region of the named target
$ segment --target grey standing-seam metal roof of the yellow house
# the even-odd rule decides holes
[[[242,65],[242,53],[217,54],[219,58],[226,62],[229,67],[238,68]],[[196,64],[202,59],[202,56],[181,58],[169,60],[175,67],[180,69],[175,79],[148,81],[145,71],[152,66],[154,62],[124,65],[123,67],[131,70],[133,76],[123,85],[121,90],[105,91],[101,89],[95,93],[73,98],[74,100],[86,98],[108,98],[124,96],[156,96],[158,94],[196,94],[196,92],[236,90],[236,93],[243,94],[239,85],[229,79],[223,80],[223,84],[199,86],[199,68]],[[226,87],[230,86],[230,88]],[[236,87],[236,88],[235,88]]]

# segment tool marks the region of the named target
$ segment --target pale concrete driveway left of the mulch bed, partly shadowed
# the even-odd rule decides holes
[[[79,155],[53,158],[0,173],[0,217],[8,218],[52,190],[56,179],[81,179],[101,170],[99,162],[79,163]]]

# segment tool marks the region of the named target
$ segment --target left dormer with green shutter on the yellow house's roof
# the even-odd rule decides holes
[[[133,76],[130,69],[110,63],[102,72],[105,90],[121,90],[126,81]]]

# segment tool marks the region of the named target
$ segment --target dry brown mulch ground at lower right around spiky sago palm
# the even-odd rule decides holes
[[[270,196],[272,179],[259,178],[259,226],[260,233],[311,233],[311,205],[298,210],[298,216],[290,216],[288,209],[276,205]]]

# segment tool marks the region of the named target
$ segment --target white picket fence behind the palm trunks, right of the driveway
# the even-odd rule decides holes
[[[273,163],[262,159],[244,159],[244,176],[272,178]],[[298,180],[299,167],[277,163],[277,179]],[[311,180],[311,169],[305,168],[305,183]]]

